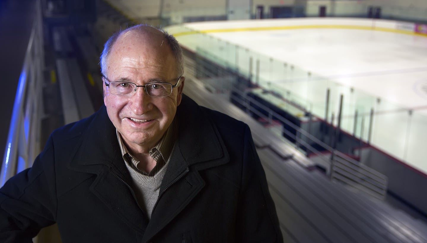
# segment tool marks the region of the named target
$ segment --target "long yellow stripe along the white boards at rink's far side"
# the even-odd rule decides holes
[[[208,33],[221,33],[221,32],[243,32],[243,31],[265,31],[265,30],[284,30],[284,29],[361,29],[361,30],[375,30],[384,32],[393,32],[407,35],[420,35],[410,30],[391,29],[376,26],[355,26],[355,25],[295,25],[295,26],[263,26],[263,27],[246,27],[246,28],[231,28],[231,29],[206,29],[206,30],[193,30],[175,33],[174,36],[193,35],[193,34],[208,34]],[[424,35],[421,35],[424,36]]]

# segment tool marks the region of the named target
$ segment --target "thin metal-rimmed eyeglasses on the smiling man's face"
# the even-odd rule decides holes
[[[136,93],[138,87],[143,87],[145,93],[151,97],[166,97],[172,94],[172,89],[179,86],[181,83],[181,77],[178,78],[176,85],[172,85],[167,82],[152,82],[146,85],[136,85],[131,82],[124,81],[108,81],[107,77],[104,76],[104,84],[110,89],[110,94],[118,96],[133,96]]]

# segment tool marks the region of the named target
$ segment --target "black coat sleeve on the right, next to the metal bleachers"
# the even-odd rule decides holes
[[[242,178],[237,214],[238,242],[283,242],[266,175],[246,126]]]

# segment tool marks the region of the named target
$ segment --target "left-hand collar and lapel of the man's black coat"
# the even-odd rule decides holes
[[[70,169],[97,174],[90,190],[119,218],[141,235],[148,217],[138,206],[131,189],[132,179],[124,164],[116,129],[104,105],[82,134]]]

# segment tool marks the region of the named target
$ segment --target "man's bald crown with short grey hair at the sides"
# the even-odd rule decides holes
[[[104,50],[102,50],[100,57],[101,73],[103,76],[107,76],[109,61],[108,58],[111,54],[111,51],[114,49],[114,46],[117,42],[121,42],[123,45],[123,41],[125,41],[126,44],[130,44],[131,42],[133,44],[138,44],[138,42],[140,42],[140,44],[144,45],[147,50],[149,48],[155,48],[156,50],[164,50],[164,48],[169,48],[176,61],[177,76],[183,75],[184,67],[182,60],[182,50],[175,37],[168,34],[164,30],[140,24],[111,35],[108,41],[105,42]]]

